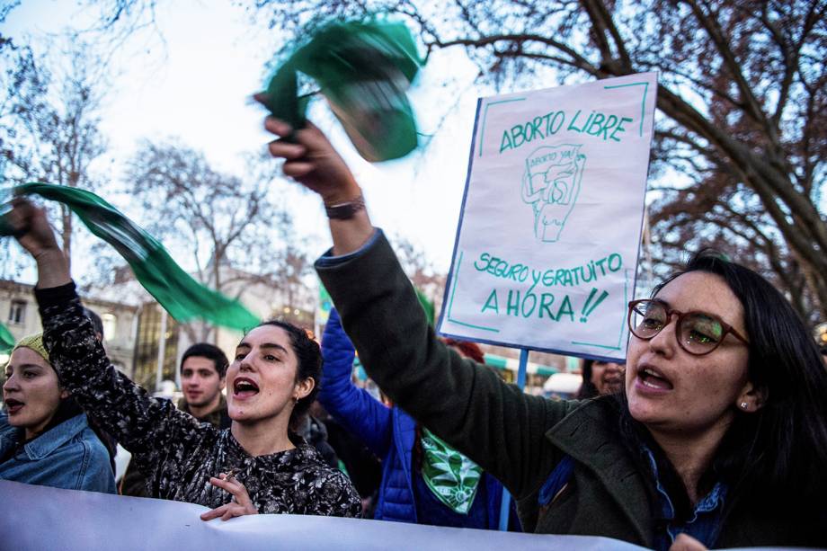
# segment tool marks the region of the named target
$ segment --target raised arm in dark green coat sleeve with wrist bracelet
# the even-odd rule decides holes
[[[280,137],[290,128],[268,119],[265,128]],[[277,140],[273,156],[284,173],[316,191],[331,206],[359,195],[342,158],[318,129],[295,133],[296,144]],[[364,209],[331,219],[333,250],[316,271],[342,315],[360,359],[405,412],[474,459],[521,497],[535,489],[561,454],[546,431],[573,407],[524,395],[490,369],[450,351],[429,327],[414,288],[381,232]]]

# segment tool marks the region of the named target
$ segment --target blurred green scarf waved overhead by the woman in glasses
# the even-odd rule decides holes
[[[319,85],[360,156],[396,159],[417,145],[405,92],[422,65],[402,22],[334,22],[313,32],[279,67],[264,104],[294,129],[305,128],[309,96],[298,95],[301,72]]]

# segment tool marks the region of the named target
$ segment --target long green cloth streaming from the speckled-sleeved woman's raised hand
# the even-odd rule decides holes
[[[200,318],[212,324],[245,330],[259,319],[238,301],[201,285],[173,261],[164,245],[158,243],[126,218],[118,209],[91,191],[49,183],[25,183],[14,188],[17,195],[40,195],[63,203],[74,212],[95,236],[115,247],[129,262],[140,284],[179,322]],[[0,235],[12,235],[7,224],[0,224]]]

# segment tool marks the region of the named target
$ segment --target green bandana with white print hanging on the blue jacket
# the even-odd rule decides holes
[[[422,427],[422,478],[451,511],[466,515],[483,469]]]

